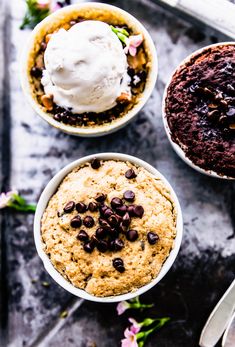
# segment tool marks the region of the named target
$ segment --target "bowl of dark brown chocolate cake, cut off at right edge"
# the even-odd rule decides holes
[[[235,178],[235,45],[186,58],[166,87],[163,117],[176,152],[197,170]]]

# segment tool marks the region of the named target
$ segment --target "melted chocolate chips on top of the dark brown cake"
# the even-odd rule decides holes
[[[208,119],[224,128],[225,131],[235,130],[235,88],[228,84],[228,93],[225,95],[212,87],[203,87],[194,83],[189,91],[197,95],[206,103],[200,108],[200,113],[206,114]]]

